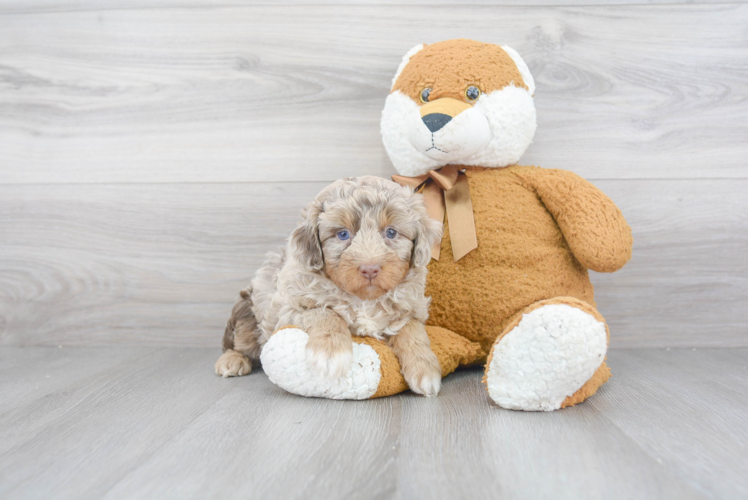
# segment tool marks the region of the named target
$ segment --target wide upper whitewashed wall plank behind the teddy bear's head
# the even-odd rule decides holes
[[[739,4],[3,15],[0,183],[386,176],[379,117],[400,57],[466,35],[514,46],[535,74],[523,163],[745,178],[746,23]]]

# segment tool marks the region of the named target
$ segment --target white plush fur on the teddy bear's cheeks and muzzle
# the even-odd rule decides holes
[[[387,96],[382,111],[384,147],[402,175],[421,175],[448,164],[515,164],[532,143],[537,127],[532,93],[514,85],[481,95],[472,109],[434,134],[421,120],[419,107],[413,99],[395,91]],[[461,119],[462,115],[466,117]],[[427,152],[432,146],[447,153]]]

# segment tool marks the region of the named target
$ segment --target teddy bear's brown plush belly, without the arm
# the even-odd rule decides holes
[[[594,306],[587,270],[535,193],[513,177],[470,183],[478,248],[454,262],[448,223],[431,261],[428,324],[479,342],[485,352],[511,317],[539,300],[571,296]]]

